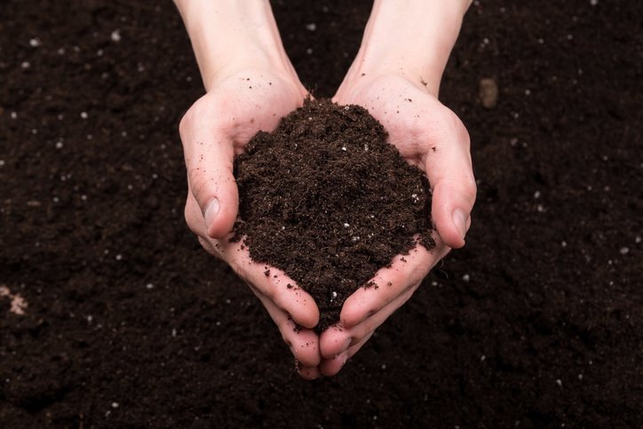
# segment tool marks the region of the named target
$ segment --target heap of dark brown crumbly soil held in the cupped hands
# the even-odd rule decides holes
[[[314,298],[318,332],[339,321],[355,290],[373,286],[379,268],[415,248],[415,234],[435,246],[428,180],[385,136],[363,107],[306,99],[234,161],[233,240],[245,236],[252,260],[282,269]]]

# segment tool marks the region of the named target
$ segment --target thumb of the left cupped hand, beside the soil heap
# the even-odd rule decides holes
[[[187,185],[201,209],[206,234],[210,238],[222,238],[232,231],[239,209],[234,181],[234,144],[218,135],[214,127],[194,130],[191,124],[186,116],[179,126]],[[190,227],[194,230],[194,226]]]

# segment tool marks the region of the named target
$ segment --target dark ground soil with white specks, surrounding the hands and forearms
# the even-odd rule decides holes
[[[318,96],[370,5],[274,2]],[[0,297],[0,425],[640,427],[642,22],[631,0],[472,5],[441,86],[472,137],[467,244],[307,382],[183,219],[203,90],[174,5],[3,1],[0,285],[28,307]]]

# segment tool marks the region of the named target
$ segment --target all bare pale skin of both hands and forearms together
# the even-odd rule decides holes
[[[433,251],[418,246],[379,270],[377,288],[360,289],[342,308],[340,322],[319,336],[319,310],[285,274],[250,259],[229,242],[237,217],[234,155],[259,130],[307,95],[283,49],[266,0],[175,0],[186,23],[207,91],[180,124],[189,191],[187,224],[203,247],[226,261],[250,285],[282,333],[307,379],[332,376],[413,294],[451,248],[464,245],[475,201],[469,136],[437,99],[441,75],[469,0],[377,0],[361,49],[333,98],[369,109],[404,159],[425,171],[433,190]],[[274,274],[278,277],[274,278]],[[390,284],[389,284],[390,283]],[[304,329],[296,332],[295,323]]]

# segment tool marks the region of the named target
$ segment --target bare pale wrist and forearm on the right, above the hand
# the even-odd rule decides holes
[[[437,97],[469,4],[471,0],[376,0],[345,82],[359,82],[363,75],[402,75]]]

